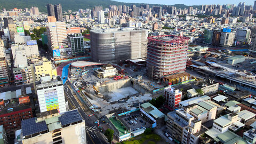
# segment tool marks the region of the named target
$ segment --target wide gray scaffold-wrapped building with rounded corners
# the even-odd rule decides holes
[[[93,62],[120,62],[147,57],[148,31],[141,28],[91,30]]]

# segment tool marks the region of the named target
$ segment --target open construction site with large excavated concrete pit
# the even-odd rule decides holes
[[[130,110],[138,103],[151,100],[154,90],[164,86],[138,75],[146,75],[146,70],[133,64],[131,61],[122,66],[77,61],[70,64],[68,79],[83,99],[89,101],[94,112],[107,115]],[[127,105],[120,105],[124,102]]]

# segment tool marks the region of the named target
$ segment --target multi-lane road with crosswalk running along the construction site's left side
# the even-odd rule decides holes
[[[79,113],[85,120],[86,128],[86,140],[87,144],[105,144],[108,143],[98,129],[98,118],[95,116],[88,116],[85,114],[83,107],[77,102],[75,94],[77,94],[73,89],[71,89],[69,84],[64,84],[65,97],[68,100],[69,109],[78,109]],[[79,96],[78,96],[79,97]]]

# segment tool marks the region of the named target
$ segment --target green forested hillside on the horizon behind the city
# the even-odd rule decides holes
[[[62,11],[72,10],[77,11],[78,9],[92,9],[94,6],[103,6],[108,7],[109,5],[127,5],[130,6],[133,3],[122,3],[110,0],[0,0],[0,9],[5,7],[6,10],[13,9],[17,7],[18,9],[24,9],[26,7],[30,8],[31,6],[36,6],[39,8],[40,12],[47,12],[46,11],[46,4],[61,4]],[[135,5],[139,6],[139,3]],[[157,4],[149,4],[151,7],[152,5]],[[185,7],[189,7],[183,4],[176,4],[174,5],[178,9],[184,9]],[[201,6],[193,6],[193,7],[201,7]]]

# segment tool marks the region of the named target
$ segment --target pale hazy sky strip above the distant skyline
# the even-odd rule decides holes
[[[235,4],[238,5],[239,2],[245,2],[245,5],[253,5],[253,0],[114,0],[118,2],[127,3],[151,3],[151,4],[185,4],[185,5],[202,5],[202,4]]]

